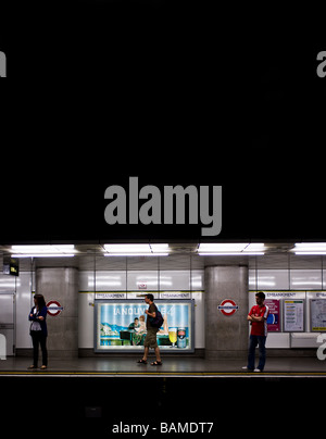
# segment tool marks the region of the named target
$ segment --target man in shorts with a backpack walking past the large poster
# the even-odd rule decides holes
[[[151,294],[151,293],[146,294],[145,302],[149,305],[149,309],[146,310],[146,312],[145,312],[147,314],[147,321],[146,321],[147,336],[143,341],[143,346],[145,346],[143,356],[141,360],[138,361],[138,363],[147,364],[149,349],[152,348],[155,350],[156,361],[151,363],[151,365],[161,366],[162,365],[161,353],[160,353],[160,348],[158,346],[158,340],[156,340],[156,334],[159,331],[159,328],[151,325],[151,318],[155,318],[156,311],[158,311],[158,308],[154,304],[153,294]]]

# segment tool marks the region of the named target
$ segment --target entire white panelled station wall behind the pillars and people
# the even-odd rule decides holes
[[[267,338],[267,348],[289,349],[312,347],[316,334],[310,333],[310,299],[315,291],[326,291],[326,269],[249,269],[249,308],[254,303],[254,292],[263,290],[296,291],[305,299],[305,330],[296,335],[289,333],[272,334]],[[96,275],[95,275],[96,274]],[[123,292],[126,298],[139,298],[139,294],[153,292],[156,298],[164,291],[178,294],[187,293],[196,301],[196,349],[205,348],[205,304],[204,304],[204,269],[184,271],[85,271],[79,269],[78,286],[78,348],[93,347],[93,301],[99,292]],[[35,291],[35,272],[20,273],[18,277],[0,275],[0,301],[12,294],[13,319],[15,330],[13,342],[17,350],[32,348],[29,337],[28,312],[33,305]],[[39,291],[41,292],[41,291]],[[301,294],[301,296],[300,296]],[[183,296],[185,298],[185,296]],[[46,300],[51,299],[46,297]],[[4,308],[0,305],[2,310]],[[64,311],[63,311],[64,312]],[[217,313],[217,310],[216,310]],[[0,321],[3,316],[0,312]],[[49,318],[55,318],[49,316]],[[237,318],[237,313],[233,318]],[[1,322],[0,322],[1,324]],[[0,330],[1,333],[1,330]]]

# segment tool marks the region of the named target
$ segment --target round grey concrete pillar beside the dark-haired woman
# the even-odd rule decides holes
[[[63,311],[48,314],[48,351],[51,356],[78,355],[78,269],[74,267],[36,268],[36,292],[43,294],[46,302],[58,301]]]

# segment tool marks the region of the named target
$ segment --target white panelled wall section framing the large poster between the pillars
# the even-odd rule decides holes
[[[168,292],[173,299],[195,299],[195,349],[204,348],[204,271],[87,271],[79,273],[79,349],[93,347],[93,302],[97,293],[124,292],[121,299],[155,299]],[[95,292],[96,291],[96,292]],[[187,296],[185,296],[187,294]]]

